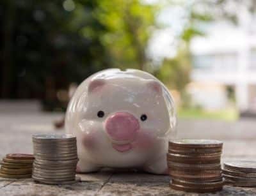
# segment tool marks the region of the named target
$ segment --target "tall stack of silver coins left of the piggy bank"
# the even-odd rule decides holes
[[[76,183],[77,146],[72,135],[33,135],[33,179],[46,184]]]

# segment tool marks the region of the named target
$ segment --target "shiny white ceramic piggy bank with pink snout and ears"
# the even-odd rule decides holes
[[[167,171],[175,130],[173,99],[154,76],[140,70],[103,70],[77,87],[65,130],[77,137],[77,172],[102,167]]]

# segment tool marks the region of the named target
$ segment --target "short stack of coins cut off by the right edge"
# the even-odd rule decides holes
[[[227,185],[256,187],[256,162],[237,161],[224,163],[223,177]]]

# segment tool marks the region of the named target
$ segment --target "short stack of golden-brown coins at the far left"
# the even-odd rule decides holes
[[[31,177],[33,161],[33,155],[7,154],[1,162],[0,177],[15,179]]]

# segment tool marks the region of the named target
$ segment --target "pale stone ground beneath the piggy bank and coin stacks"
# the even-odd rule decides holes
[[[31,135],[63,132],[52,122],[63,114],[41,112],[0,113],[0,158],[6,153],[32,153]],[[256,121],[179,121],[178,137],[220,139],[225,142],[223,160],[253,159],[256,147]],[[0,195],[198,195],[169,188],[170,177],[145,174],[135,170],[105,169],[93,174],[79,174],[74,185],[44,185],[33,179],[0,178]],[[212,194],[203,194],[212,195]],[[225,186],[216,195],[256,195],[254,188]]]

